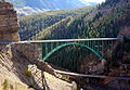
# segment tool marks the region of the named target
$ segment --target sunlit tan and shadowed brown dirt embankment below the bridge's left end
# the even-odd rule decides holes
[[[12,90],[26,90],[30,89],[41,90],[43,83],[43,77],[41,75],[44,70],[46,86],[50,90],[73,90],[73,83],[56,78],[56,74],[53,69],[43,62],[36,61],[37,56],[34,55],[35,48],[27,50],[27,47],[34,47],[32,44],[21,46],[1,46],[0,50],[0,87],[4,86],[13,88]],[[24,52],[26,49],[26,52]],[[32,50],[32,51],[30,51]],[[37,49],[36,49],[37,50]],[[25,54],[26,53],[26,54]],[[35,59],[36,57],[36,59]],[[29,73],[30,72],[30,73]],[[48,73],[47,73],[48,72]],[[21,87],[18,89],[18,87]]]

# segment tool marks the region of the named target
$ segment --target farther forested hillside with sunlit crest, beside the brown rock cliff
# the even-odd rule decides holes
[[[90,12],[94,7],[48,11],[40,14],[20,17],[21,40],[29,40],[32,36],[66,17],[73,17],[83,12]]]

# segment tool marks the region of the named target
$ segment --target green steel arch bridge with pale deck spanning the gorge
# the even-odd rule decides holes
[[[79,46],[86,48],[95,54],[100,60],[104,57],[106,50],[112,50],[117,38],[92,38],[92,39],[63,39],[63,40],[44,40],[40,42],[41,61],[48,60],[56,51],[69,46]]]

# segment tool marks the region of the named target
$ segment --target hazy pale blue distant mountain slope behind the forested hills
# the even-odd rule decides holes
[[[95,5],[94,2],[83,3],[80,0],[8,0],[12,2],[20,16],[30,15],[43,11],[75,9],[86,5]]]

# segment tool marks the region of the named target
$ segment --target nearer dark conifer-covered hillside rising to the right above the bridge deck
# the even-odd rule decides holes
[[[36,37],[37,39],[117,37],[121,29],[130,26],[129,7],[129,0],[116,2],[107,0],[96,10],[73,17],[69,25],[55,24],[41,30]]]

